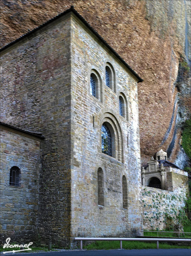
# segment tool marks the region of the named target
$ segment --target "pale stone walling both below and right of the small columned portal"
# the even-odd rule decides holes
[[[167,182],[168,189],[171,191],[142,186],[144,230],[164,230],[168,216],[172,217],[171,222],[174,225],[180,225],[178,215],[181,214],[187,198],[188,174],[178,171],[181,173],[167,172],[167,179],[171,181]]]

